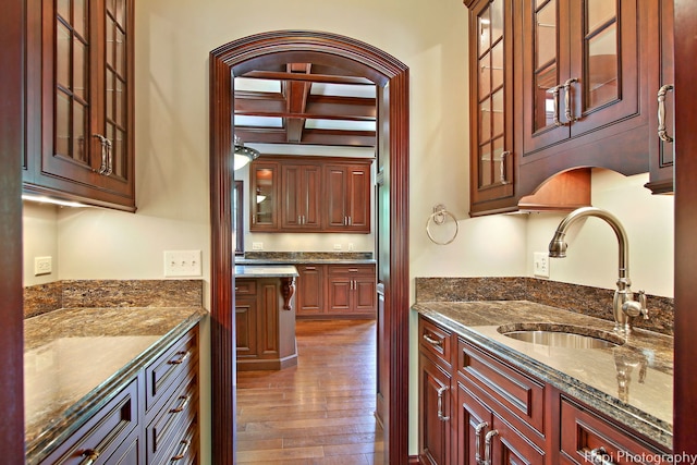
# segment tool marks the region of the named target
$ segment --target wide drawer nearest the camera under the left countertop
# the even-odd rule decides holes
[[[94,457],[94,464],[109,462],[111,455],[138,423],[138,382],[133,380],[107,403],[83,427],[69,438],[41,464],[83,464]]]

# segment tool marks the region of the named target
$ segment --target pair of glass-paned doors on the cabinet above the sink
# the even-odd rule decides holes
[[[639,1],[524,2],[524,151],[640,114]]]

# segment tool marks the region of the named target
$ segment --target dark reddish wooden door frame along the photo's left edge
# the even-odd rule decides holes
[[[24,311],[22,309],[22,160],[25,112],[24,0],[0,15],[0,456],[24,463]]]

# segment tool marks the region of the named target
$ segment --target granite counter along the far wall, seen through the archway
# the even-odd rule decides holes
[[[371,265],[376,260],[370,252],[247,252],[236,257],[237,265]]]

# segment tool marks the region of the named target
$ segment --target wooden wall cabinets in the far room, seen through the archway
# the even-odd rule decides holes
[[[371,160],[261,157],[250,164],[252,232],[369,233]]]

